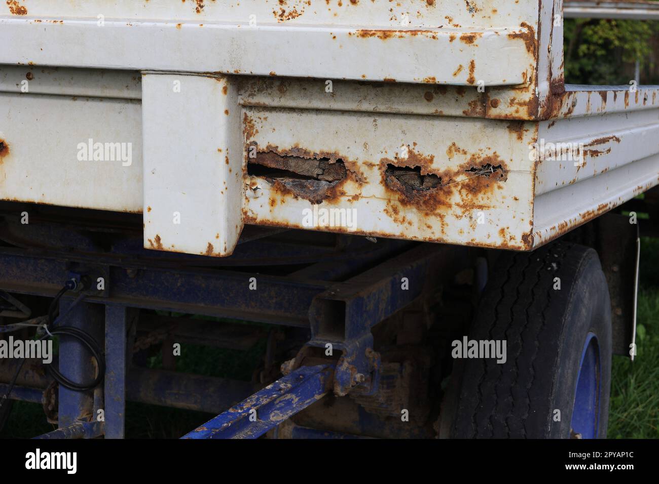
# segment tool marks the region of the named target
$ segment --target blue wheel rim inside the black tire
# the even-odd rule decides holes
[[[588,333],[581,352],[577,390],[572,408],[571,437],[596,439],[600,416],[600,348],[597,336]]]

